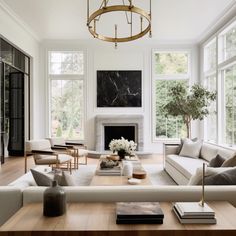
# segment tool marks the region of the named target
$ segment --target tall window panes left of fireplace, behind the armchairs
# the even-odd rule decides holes
[[[84,139],[84,54],[49,52],[52,137]]]

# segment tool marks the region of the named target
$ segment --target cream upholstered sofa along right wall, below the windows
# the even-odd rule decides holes
[[[203,163],[209,163],[217,154],[228,159],[236,154],[235,149],[203,142],[198,159],[178,154],[179,144],[164,144],[164,169],[179,185],[187,185],[190,178]]]

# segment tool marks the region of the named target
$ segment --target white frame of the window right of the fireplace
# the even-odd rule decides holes
[[[188,73],[187,74],[174,74],[174,75],[161,75],[155,73],[155,54],[156,53],[186,53],[188,55]],[[192,50],[186,48],[177,49],[152,49],[151,57],[151,74],[152,74],[152,142],[178,142],[179,138],[158,138],[156,137],[156,80],[186,80],[187,84],[191,84],[192,78]]]

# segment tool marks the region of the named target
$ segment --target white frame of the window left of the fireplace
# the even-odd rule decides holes
[[[51,52],[82,52],[83,53],[83,59],[84,59],[84,65],[83,65],[83,74],[50,74],[50,53]],[[84,49],[64,49],[64,48],[52,48],[52,49],[46,49],[46,77],[47,77],[47,83],[46,83],[46,91],[47,91],[47,97],[46,97],[46,107],[47,107],[47,121],[46,121],[46,134],[51,137],[51,81],[52,80],[82,80],[83,81],[83,133],[84,138],[83,139],[73,139],[68,141],[80,141],[83,142],[86,139],[86,132],[85,132],[85,120],[87,117],[87,104],[86,104],[86,96],[87,96],[87,52]]]

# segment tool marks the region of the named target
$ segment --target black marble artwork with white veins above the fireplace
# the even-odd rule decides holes
[[[141,71],[97,71],[97,107],[141,107]]]

